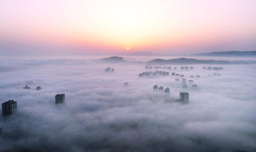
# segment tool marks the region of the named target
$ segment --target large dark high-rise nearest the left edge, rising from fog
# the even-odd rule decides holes
[[[9,100],[2,103],[2,114],[3,115],[12,115],[17,110],[17,101]]]

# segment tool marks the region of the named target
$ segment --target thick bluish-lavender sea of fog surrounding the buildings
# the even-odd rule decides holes
[[[193,70],[166,65],[172,67],[165,70],[170,74],[192,79],[198,85],[193,90],[189,82],[183,89],[175,81],[179,76],[139,77],[149,71],[144,63],[97,61],[103,57],[109,56],[1,57],[0,101],[17,101],[17,113],[0,117],[0,151],[256,151],[255,65],[187,65]],[[123,57],[142,62],[178,58]],[[114,72],[106,73],[108,67]],[[31,90],[23,89],[27,80],[34,82]],[[169,87],[173,99],[189,92],[189,104],[166,101],[163,92],[153,91],[155,84]],[[55,105],[58,93],[65,93],[64,105]]]

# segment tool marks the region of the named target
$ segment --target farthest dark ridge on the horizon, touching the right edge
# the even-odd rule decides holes
[[[256,56],[256,51],[223,51],[190,54],[189,56]]]

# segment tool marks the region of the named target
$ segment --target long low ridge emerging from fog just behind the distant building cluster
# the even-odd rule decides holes
[[[166,64],[176,64],[176,65],[185,65],[185,64],[256,64],[256,61],[221,61],[221,60],[200,60],[200,59],[188,59],[188,58],[179,58],[179,59],[153,59],[146,62],[148,65],[166,65]]]

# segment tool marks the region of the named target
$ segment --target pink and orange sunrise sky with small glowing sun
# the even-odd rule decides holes
[[[1,0],[0,53],[256,51],[255,16],[255,0]]]

